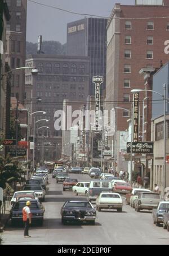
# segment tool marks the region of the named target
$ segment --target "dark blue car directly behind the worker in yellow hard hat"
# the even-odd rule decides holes
[[[24,199],[14,203],[10,211],[12,225],[23,223],[23,208],[27,201],[27,199]],[[32,214],[32,223],[42,225],[45,208],[38,199],[29,199],[29,201],[31,202],[30,211]]]

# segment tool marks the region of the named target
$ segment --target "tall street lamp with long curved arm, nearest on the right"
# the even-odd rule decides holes
[[[154,90],[146,90],[146,89],[134,89],[131,90],[131,93],[139,93],[139,92],[152,92],[155,94],[158,94],[159,96],[161,96],[163,98],[164,101],[164,191],[166,188],[166,84],[163,84],[163,91],[164,91],[164,95],[162,95],[161,93],[158,93]]]

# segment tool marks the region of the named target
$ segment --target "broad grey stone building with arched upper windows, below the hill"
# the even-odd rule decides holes
[[[38,125],[42,124],[42,127],[47,125],[50,128],[37,132],[37,150],[39,152],[37,159],[55,160],[54,144],[58,145],[57,157],[59,158],[59,156],[61,157],[61,137],[64,136],[67,128],[62,127],[60,131],[55,129],[55,113],[57,110],[63,110],[63,102],[66,99],[69,99],[72,111],[79,110],[82,102],[86,102],[89,93],[90,60],[88,57],[35,54],[28,57],[26,67],[35,67],[39,70],[37,76],[32,76],[31,71],[26,70],[26,107],[30,109],[30,112],[45,111],[46,115],[37,114],[35,121],[46,118],[49,120],[48,123],[42,122]],[[39,103],[37,99],[40,98],[42,101]],[[69,127],[72,127],[72,123],[69,124]],[[47,142],[54,146],[52,152],[50,144],[46,144],[47,149],[45,149],[44,136]]]

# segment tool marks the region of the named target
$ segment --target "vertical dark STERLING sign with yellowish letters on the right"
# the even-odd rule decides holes
[[[133,141],[139,138],[139,93],[134,94],[134,113],[133,113]]]

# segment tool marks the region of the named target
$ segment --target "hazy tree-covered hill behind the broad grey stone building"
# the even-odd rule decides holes
[[[38,44],[26,42],[26,55],[37,54]],[[62,45],[57,41],[43,41],[42,51],[45,54],[66,55],[66,44]]]

